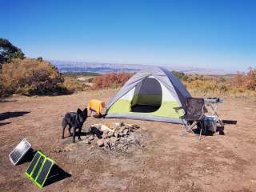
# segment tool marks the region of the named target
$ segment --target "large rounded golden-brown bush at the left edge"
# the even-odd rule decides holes
[[[16,58],[2,65],[1,96],[10,94],[66,94],[63,78],[50,62],[31,58]]]

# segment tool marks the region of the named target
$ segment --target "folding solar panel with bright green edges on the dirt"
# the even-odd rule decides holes
[[[37,186],[42,188],[50,170],[54,166],[54,161],[38,151],[30,162],[30,166],[26,170],[26,176],[30,178]]]

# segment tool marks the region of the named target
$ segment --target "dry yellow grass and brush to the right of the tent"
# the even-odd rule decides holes
[[[182,82],[193,95],[256,98],[255,74],[256,70],[250,69],[247,74],[236,74],[234,77],[188,75]]]

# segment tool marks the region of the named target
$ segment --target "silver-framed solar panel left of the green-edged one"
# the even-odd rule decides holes
[[[28,150],[30,150],[31,144],[26,141],[26,138],[23,138],[21,142],[18,143],[18,146],[9,154],[10,162],[14,165],[22,159]]]

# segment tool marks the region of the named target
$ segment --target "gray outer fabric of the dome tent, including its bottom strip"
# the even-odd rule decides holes
[[[108,114],[108,109],[114,104],[114,102],[118,101],[119,98],[122,98],[123,95],[128,93],[130,90],[132,90],[135,86],[142,86],[142,81],[145,80],[145,78],[153,76],[155,79],[157,79],[159,82],[162,83],[162,85],[166,86],[166,89],[170,91],[170,94],[173,95],[173,97],[180,102],[180,106],[182,106],[184,109],[186,107],[186,98],[190,98],[190,93],[186,90],[186,87],[183,86],[182,82],[170,72],[170,70],[166,70],[162,67],[152,66],[146,70],[140,70],[137,74],[134,74],[133,77],[131,77],[124,86],[122,86],[121,90],[118,91],[117,94],[115,94],[114,98],[110,100],[110,102],[107,103],[106,106],[106,118],[136,118],[136,119],[145,119],[145,120],[152,120],[152,121],[162,121],[162,122],[177,122],[181,123],[178,119],[163,119],[159,117],[150,117],[150,116],[144,116],[143,114]],[[152,91],[154,90],[154,86],[152,86],[150,89]],[[147,89],[148,90],[148,89]],[[156,90],[157,91],[157,90]],[[158,119],[157,119],[158,118]]]

